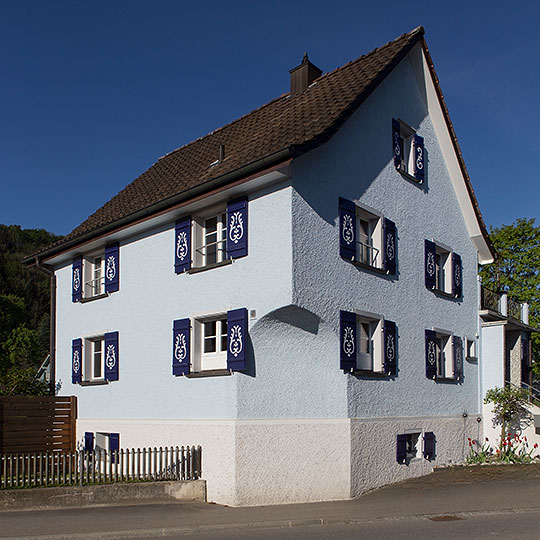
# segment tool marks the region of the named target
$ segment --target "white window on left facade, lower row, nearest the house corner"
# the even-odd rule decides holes
[[[216,350],[205,352],[205,335],[208,326],[205,323],[216,323]],[[225,333],[223,334],[223,329]],[[192,372],[227,369],[227,312],[213,313],[193,319],[194,351],[191,362]],[[225,343],[223,344],[223,337]]]

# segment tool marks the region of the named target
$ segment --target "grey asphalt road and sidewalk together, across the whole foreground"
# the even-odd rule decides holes
[[[540,539],[540,465],[460,468],[349,501],[156,503],[0,512],[0,540]]]

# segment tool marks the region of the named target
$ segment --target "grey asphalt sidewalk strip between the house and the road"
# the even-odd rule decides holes
[[[225,529],[366,523],[540,509],[540,465],[439,469],[354,500],[230,508],[198,502],[0,513],[0,538],[149,538]],[[89,524],[93,524],[89,528]]]

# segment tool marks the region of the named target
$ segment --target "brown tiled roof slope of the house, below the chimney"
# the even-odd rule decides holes
[[[159,159],[56,245],[50,256],[83,240],[188,198],[193,188],[215,187],[234,173],[295,157],[327,141],[418,42],[416,28],[357,60],[322,75],[305,91],[285,94],[238,120]],[[214,163],[219,145],[225,159]]]

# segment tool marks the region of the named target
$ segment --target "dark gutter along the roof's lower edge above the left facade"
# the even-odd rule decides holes
[[[240,167],[239,169],[235,169],[234,171],[223,174],[222,176],[218,176],[216,178],[213,178],[212,180],[208,180],[204,182],[203,184],[194,186],[188,189],[187,191],[182,191],[181,193],[168,197],[167,199],[163,199],[157,203],[152,204],[151,206],[147,206],[146,208],[143,208],[142,210],[138,210],[137,212],[129,214],[128,216],[124,216],[123,218],[120,218],[116,221],[107,223],[106,225],[102,225],[101,227],[98,227],[97,229],[94,229],[80,236],[77,236],[76,238],[73,238],[72,240],[68,240],[67,242],[63,244],[46,249],[45,251],[42,251],[39,253],[39,258],[43,260],[43,259],[52,257],[53,255],[56,255],[57,253],[70,249],[78,244],[82,244],[85,241],[91,240],[93,237],[109,233],[124,225],[128,225],[134,221],[144,219],[148,216],[151,216],[152,214],[159,212],[160,210],[173,207],[176,204],[179,204],[188,199],[191,199],[195,197],[196,195],[200,195],[201,193],[204,193],[205,191],[211,190],[212,188],[221,187],[222,185],[228,184],[232,182],[233,180],[237,180],[243,176],[248,176],[249,174],[254,173],[257,170],[267,168],[271,165],[284,161],[287,158],[294,157],[295,155],[296,155],[296,152],[293,149],[293,147],[284,148],[283,150],[275,152],[274,154],[271,154],[257,161],[249,163],[248,165],[244,165],[243,167]],[[28,256],[24,258],[21,262],[24,264],[30,264],[32,261],[36,261],[36,264],[38,264],[38,256],[37,255]]]

